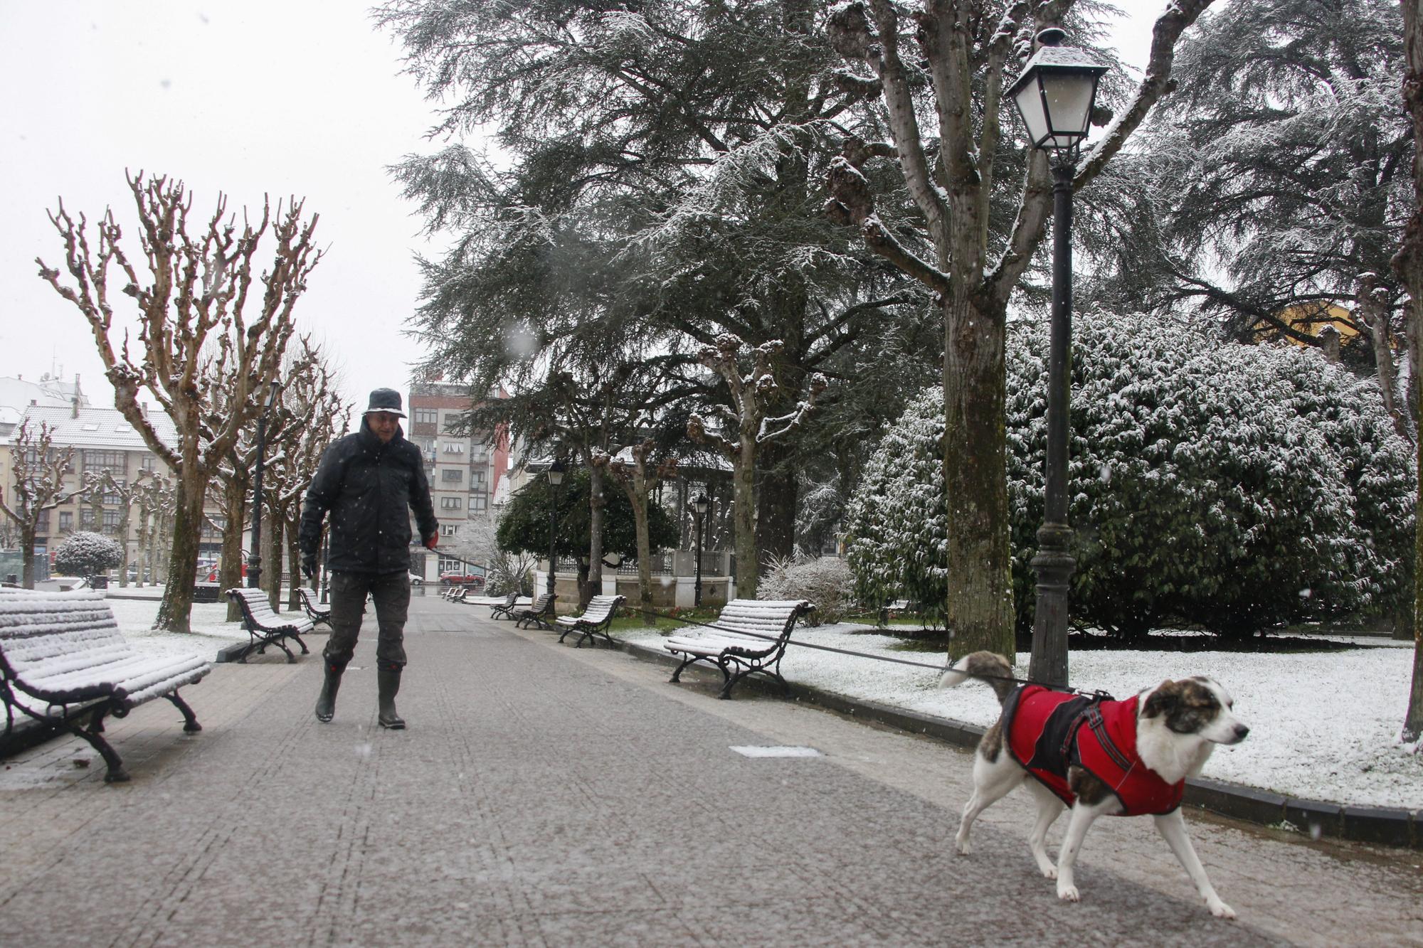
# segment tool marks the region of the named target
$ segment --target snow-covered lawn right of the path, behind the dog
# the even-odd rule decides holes
[[[794,642],[935,663],[932,653],[892,649],[888,635],[854,635],[857,625],[797,629],[781,662],[788,682],[859,700],[988,726],[998,700],[986,685],[938,688],[939,673],[795,648]],[[655,631],[615,638],[660,648]],[[1027,673],[1027,653],[1015,675]],[[1359,806],[1423,809],[1423,753],[1399,742],[1412,676],[1412,648],[1259,655],[1241,652],[1073,652],[1072,683],[1127,697],[1164,679],[1210,675],[1251,726],[1235,747],[1217,747],[1202,776],[1291,797]]]

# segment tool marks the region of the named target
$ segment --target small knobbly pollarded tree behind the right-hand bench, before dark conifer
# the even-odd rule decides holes
[[[731,409],[716,406],[726,421],[726,431],[709,427],[702,416],[692,416],[687,434],[697,444],[710,444],[731,460],[731,502],[736,531],[736,595],[756,598],[760,559],[756,551],[756,451],[797,427],[825,390],[825,377],[810,377],[807,394],[795,409],[780,417],[767,417],[771,399],[784,396],[783,386],[771,370],[780,352],[778,342],[761,343],[750,349],[730,333],[717,336],[714,346],[703,346],[699,357],[703,366],[716,372],[730,390]],[[741,359],[750,357],[750,374],[741,374]]]

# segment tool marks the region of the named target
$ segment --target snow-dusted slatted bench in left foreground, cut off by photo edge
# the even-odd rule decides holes
[[[104,783],[124,783],[128,771],[104,740],[104,717],[166,697],[182,712],[184,732],[202,725],[178,689],[201,680],[212,666],[202,658],[144,655],[124,639],[114,613],[95,592],[0,591],[0,699],[6,736],[16,713],[46,732],[67,730],[100,753]]]

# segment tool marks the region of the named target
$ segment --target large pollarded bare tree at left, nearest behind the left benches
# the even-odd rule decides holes
[[[295,330],[293,307],[306,289],[306,278],[322,258],[312,245],[317,216],[302,219],[303,204],[292,199],[262,206],[253,225],[246,218],[240,232],[228,216],[228,199],[203,229],[188,232],[192,198],[182,182],[128,178],[138,211],[139,241],[148,272],[141,278],[121,246],[122,233],[111,211],[97,225],[98,245],[91,248],[87,221],[75,222],[60,202],[50,215],[64,241],[65,269],[73,285],[60,282],[60,270],[40,263],[40,276],[88,320],[105,374],[114,386],[114,404],[138,430],[148,448],[178,478],[174,512],[174,547],[168,585],[155,628],[189,631],[202,507],[223,458],[242,430],[260,410],[259,397],[276,377]],[[269,270],[253,272],[253,256],[268,228],[276,241]],[[114,346],[114,310],[108,293],[110,266],[124,279],[122,293],[138,307],[141,347],[129,354],[128,337]],[[262,288],[256,316],[246,313],[253,280]],[[172,418],[178,444],[165,444],[138,403],[147,390]],[[218,411],[213,393],[228,393],[226,410]]]

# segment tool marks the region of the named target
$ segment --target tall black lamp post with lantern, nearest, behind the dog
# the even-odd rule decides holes
[[[1047,357],[1047,463],[1043,525],[1037,531],[1037,608],[1033,616],[1033,658],[1027,675],[1047,685],[1067,685],[1069,581],[1077,561],[1067,524],[1067,410],[1072,399],[1072,181],[1077,154],[1087,137],[1097,81],[1107,67],[1070,46],[1052,27],[1037,34],[1042,44],[1017,77],[1009,98],[1027,127],[1033,148],[1052,152],[1053,168],[1053,306]]]

